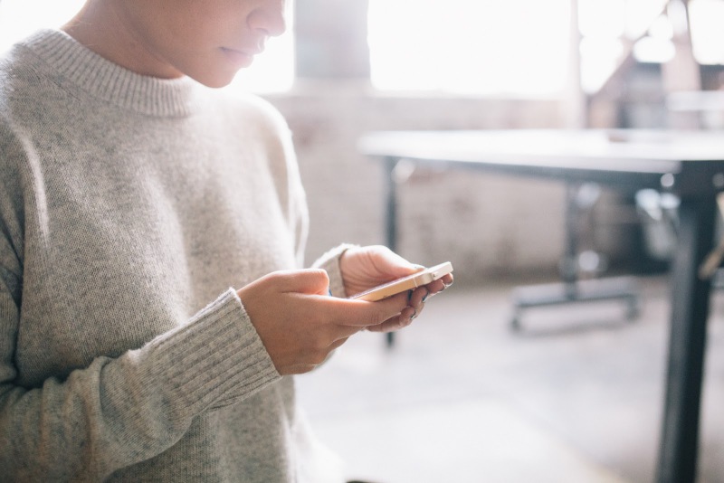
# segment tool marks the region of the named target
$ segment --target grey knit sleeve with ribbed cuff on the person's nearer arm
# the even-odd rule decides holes
[[[229,289],[186,325],[41,387],[14,384],[17,316],[0,291],[0,474],[100,480],[172,446],[195,416],[281,376]]]

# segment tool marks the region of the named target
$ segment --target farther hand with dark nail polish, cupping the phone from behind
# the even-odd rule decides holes
[[[345,251],[339,260],[347,295],[372,289],[388,281],[411,275],[422,269],[389,250],[385,246],[353,247]],[[424,301],[452,284],[452,274],[411,290],[408,305],[395,317],[376,326],[367,327],[373,332],[392,332],[410,325],[424,308]],[[369,302],[376,303],[376,302]]]

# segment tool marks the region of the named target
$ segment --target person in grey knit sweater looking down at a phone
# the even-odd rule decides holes
[[[87,0],[0,61],[4,481],[338,481],[293,374],[452,276],[342,244],[304,269],[290,130],[224,90],[283,0]],[[331,296],[330,296],[331,295]]]

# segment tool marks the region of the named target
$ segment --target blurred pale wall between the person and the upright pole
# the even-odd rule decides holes
[[[294,133],[307,187],[308,260],[338,242],[383,243],[383,172],[357,139],[378,129],[556,128],[549,100],[381,96],[364,85],[313,82],[268,96]],[[400,189],[398,251],[452,260],[459,280],[555,277],[564,247],[562,185],[472,172],[418,170]]]

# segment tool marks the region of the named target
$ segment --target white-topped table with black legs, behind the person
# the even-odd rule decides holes
[[[659,483],[696,478],[700,395],[711,280],[700,264],[714,246],[717,195],[724,191],[724,136],[715,131],[539,129],[386,131],[359,140],[360,151],[386,169],[386,237],[396,243],[395,166],[470,169],[487,173],[599,183],[634,193],[676,194],[679,233],[672,260],[671,332]]]

